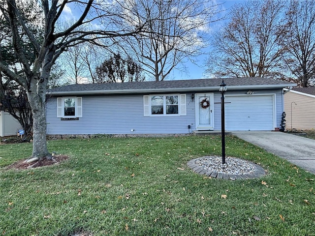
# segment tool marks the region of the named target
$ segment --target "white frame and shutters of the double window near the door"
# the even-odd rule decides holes
[[[163,112],[164,114],[152,114],[151,97],[163,96]],[[178,114],[166,114],[166,96],[178,96]],[[149,94],[143,96],[143,115],[145,117],[178,117],[186,116],[186,94],[171,93],[171,94]]]

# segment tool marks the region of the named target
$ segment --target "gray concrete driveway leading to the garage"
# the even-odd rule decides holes
[[[232,134],[315,174],[314,139],[273,131],[233,131]]]

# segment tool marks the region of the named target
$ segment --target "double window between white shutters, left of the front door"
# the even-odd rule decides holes
[[[151,96],[151,115],[178,115],[178,95]]]

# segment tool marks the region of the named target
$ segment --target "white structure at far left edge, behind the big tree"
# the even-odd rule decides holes
[[[0,111],[0,137],[16,135],[22,129],[21,124],[9,113]]]

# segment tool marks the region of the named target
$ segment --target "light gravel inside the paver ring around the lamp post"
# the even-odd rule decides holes
[[[195,164],[207,171],[227,175],[245,175],[256,171],[255,166],[250,162],[234,157],[225,157],[225,164],[222,164],[221,156],[207,156],[196,159]]]

